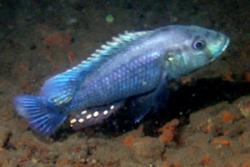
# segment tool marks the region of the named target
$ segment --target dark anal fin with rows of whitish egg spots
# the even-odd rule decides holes
[[[80,130],[88,126],[101,124],[112,114],[116,113],[123,105],[124,102],[117,102],[73,112],[69,118],[70,126],[74,130]]]

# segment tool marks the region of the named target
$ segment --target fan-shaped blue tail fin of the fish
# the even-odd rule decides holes
[[[17,96],[14,104],[17,113],[29,122],[31,128],[45,136],[52,135],[67,117],[41,96]]]

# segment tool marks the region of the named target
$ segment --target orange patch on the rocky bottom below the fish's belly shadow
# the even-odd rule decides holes
[[[173,119],[158,130],[161,133],[159,139],[163,144],[169,144],[174,140],[179,123],[180,121],[178,119]]]

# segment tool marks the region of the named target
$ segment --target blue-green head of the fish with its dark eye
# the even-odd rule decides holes
[[[213,62],[230,43],[225,34],[199,26],[172,27],[168,38],[166,67],[174,78]]]

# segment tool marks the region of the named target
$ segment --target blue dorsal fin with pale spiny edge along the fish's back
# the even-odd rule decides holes
[[[67,104],[73,98],[79,86],[78,82],[86,75],[114,56],[120,49],[150,32],[152,31],[125,32],[118,37],[113,37],[112,41],[102,45],[101,49],[96,50],[77,66],[48,79],[42,87],[41,95],[46,96],[49,102],[57,106]]]

